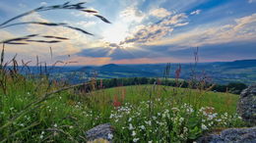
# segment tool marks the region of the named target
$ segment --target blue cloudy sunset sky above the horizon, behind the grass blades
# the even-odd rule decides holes
[[[0,23],[37,7],[63,0],[0,0]],[[256,0],[71,0],[87,2],[111,24],[94,15],[56,10],[32,13],[12,22],[65,23],[94,35],[62,27],[15,25],[0,28],[0,40],[28,34],[67,37],[60,43],[5,45],[5,62],[69,65],[192,63],[256,59]],[[52,56],[50,54],[50,48]]]

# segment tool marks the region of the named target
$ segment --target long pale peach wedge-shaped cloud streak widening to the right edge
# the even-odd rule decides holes
[[[256,14],[235,19],[234,22],[234,24],[196,27],[170,38],[153,41],[149,45],[174,44],[179,45],[179,47],[189,48],[191,46],[253,40],[256,38]]]

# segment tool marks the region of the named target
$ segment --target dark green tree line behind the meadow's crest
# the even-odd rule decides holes
[[[202,83],[201,81],[191,81],[183,79],[165,79],[165,78],[154,78],[154,77],[129,77],[129,78],[106,78],[96,79],[96,88],[111,88],[118,86],[129,86],[129,85],[143,85],[143,84],[158,84],[173,87],[182,88],[200,88],[204,84],[204,89],[210,88],[215,92],[228,92],[233,94],[240,94],[241,91],[247,88],[247,85],[241,82],[230,82],[228,84],[213,84],[213,83]]]

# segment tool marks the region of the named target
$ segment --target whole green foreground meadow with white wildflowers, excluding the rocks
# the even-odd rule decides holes
[[[85,131],[105,122],[115,127],[116,142],[186,142],[205,131],[243,124],[235,114],[238,96],[233,94],[135,85],[91,93],[60,90],[45,98],[45,93],[64,85],[49,83],[46,77],[6,76],[6,93],[0,90],[2,142],[85,142]],[[207,116],[213,119],[205,119]],[[8,124],[10,120],[13,122]]]

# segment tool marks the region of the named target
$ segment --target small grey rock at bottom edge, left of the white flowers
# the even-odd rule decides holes
[[[93,142],[101,139],[112,142],[113,131],[114,128],[110,125],[110,123],[99,124],[86,132],[86,138],[88,141]]]

